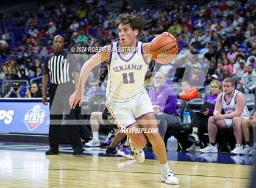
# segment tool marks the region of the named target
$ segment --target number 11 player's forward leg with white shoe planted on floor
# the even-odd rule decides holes
[[[140,128],[145,130],[144,134],[152,144],[152,149],[157,156],[158,162],[162,170],[161,180],[167,184],[179,184],[179,180],[169,169],[165,143],[157,130],[157,120],[152,113],[141,116],[137,119]]]

